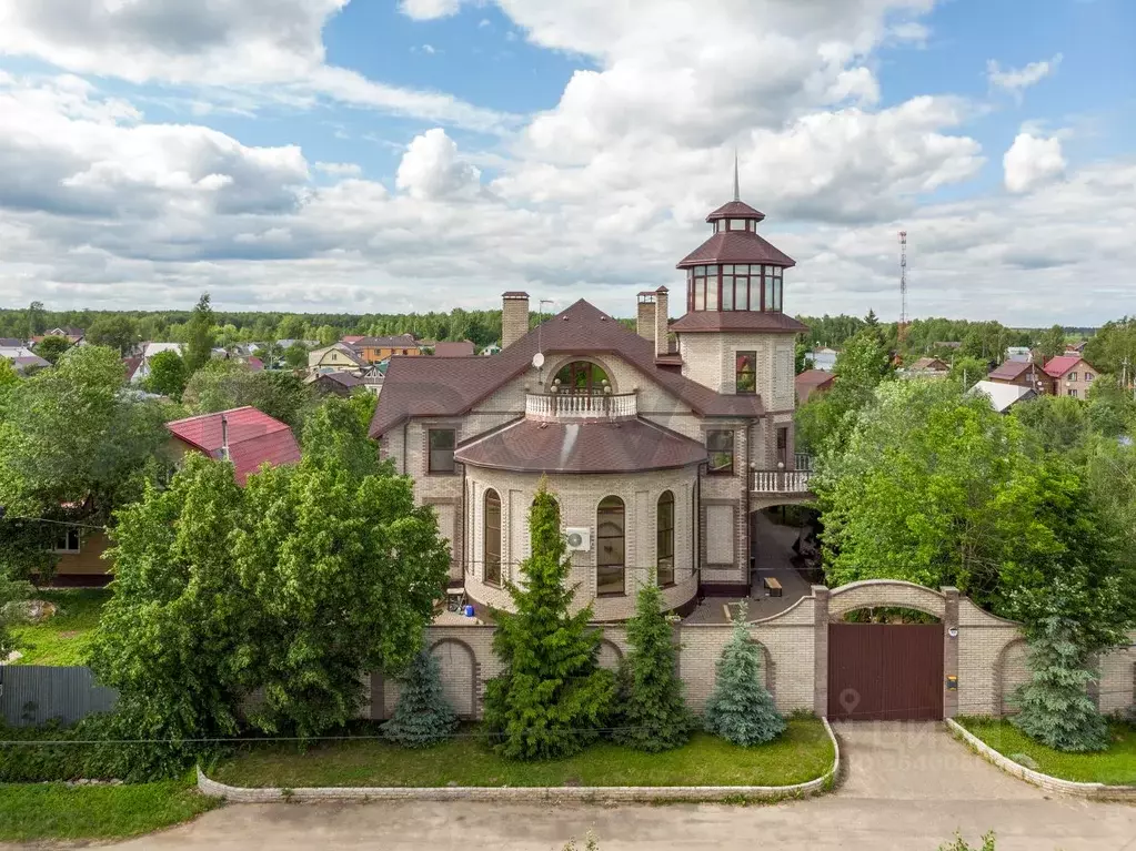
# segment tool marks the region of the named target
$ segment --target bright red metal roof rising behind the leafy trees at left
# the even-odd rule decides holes
[[[236,469],[236,483],[244,485],[261,464],[277,466],[300,460],[300,447],[292,429],[254,407],[236,407],[216,414],[201,414],[167,422],[178,440],[212,458],[222,455],[220,418],[228,426],[228,456]]]

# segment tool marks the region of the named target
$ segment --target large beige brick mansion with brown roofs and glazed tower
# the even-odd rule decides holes
[[[736,197],[710,213],[678,263],[677,321],[659,287],[637,294],[634,331],[585,301],[529,330],[529,296],[510,290],[499,354],[391,359],[370,435],[434,508],[470,600],[512,610],[542,479],[574,606],[596,621],[633,615],[649,582],[683,614],[750,592],[754,514],[812,498],[793,424],[808,328],[784,310],[794,261],[758,235],[763,218]]]

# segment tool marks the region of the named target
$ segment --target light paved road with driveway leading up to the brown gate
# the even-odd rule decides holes
[[[561,851],[594,831],[601,851],[934,851],[961,827],[999,851],[1136,851],[1136,807],[1047,799],[937,724],[840,725],[847,764],[833,795],[760,807],[477,803],[227,807],[133,851],[382,849]]]

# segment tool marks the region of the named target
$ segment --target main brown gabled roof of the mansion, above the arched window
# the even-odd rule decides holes
[[[540,346],[540,349],[537,348]],[[392,357],[378,397],[371,437],[411,416],[458,416],[532,369],[533,355],[617,354],[703,416],[765,415],[760,396],[726,396],[655,364],[654,342],[580,300],[488,357]],[[444,369],[438,361],[444,360]]]

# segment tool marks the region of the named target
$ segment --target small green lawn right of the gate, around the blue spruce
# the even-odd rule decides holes
[[[1110,786],[1136,785],[1136,731],[1125,724],[1112,726],[1112,744],[1099,753],[1062,753],[1038,744],[1008,721],[957,718],[963,727],[994,750],[1011,759],[1025,753],[1043,774],[1081,783]],[[1029,766],[1033,767],[1033,766]]]

